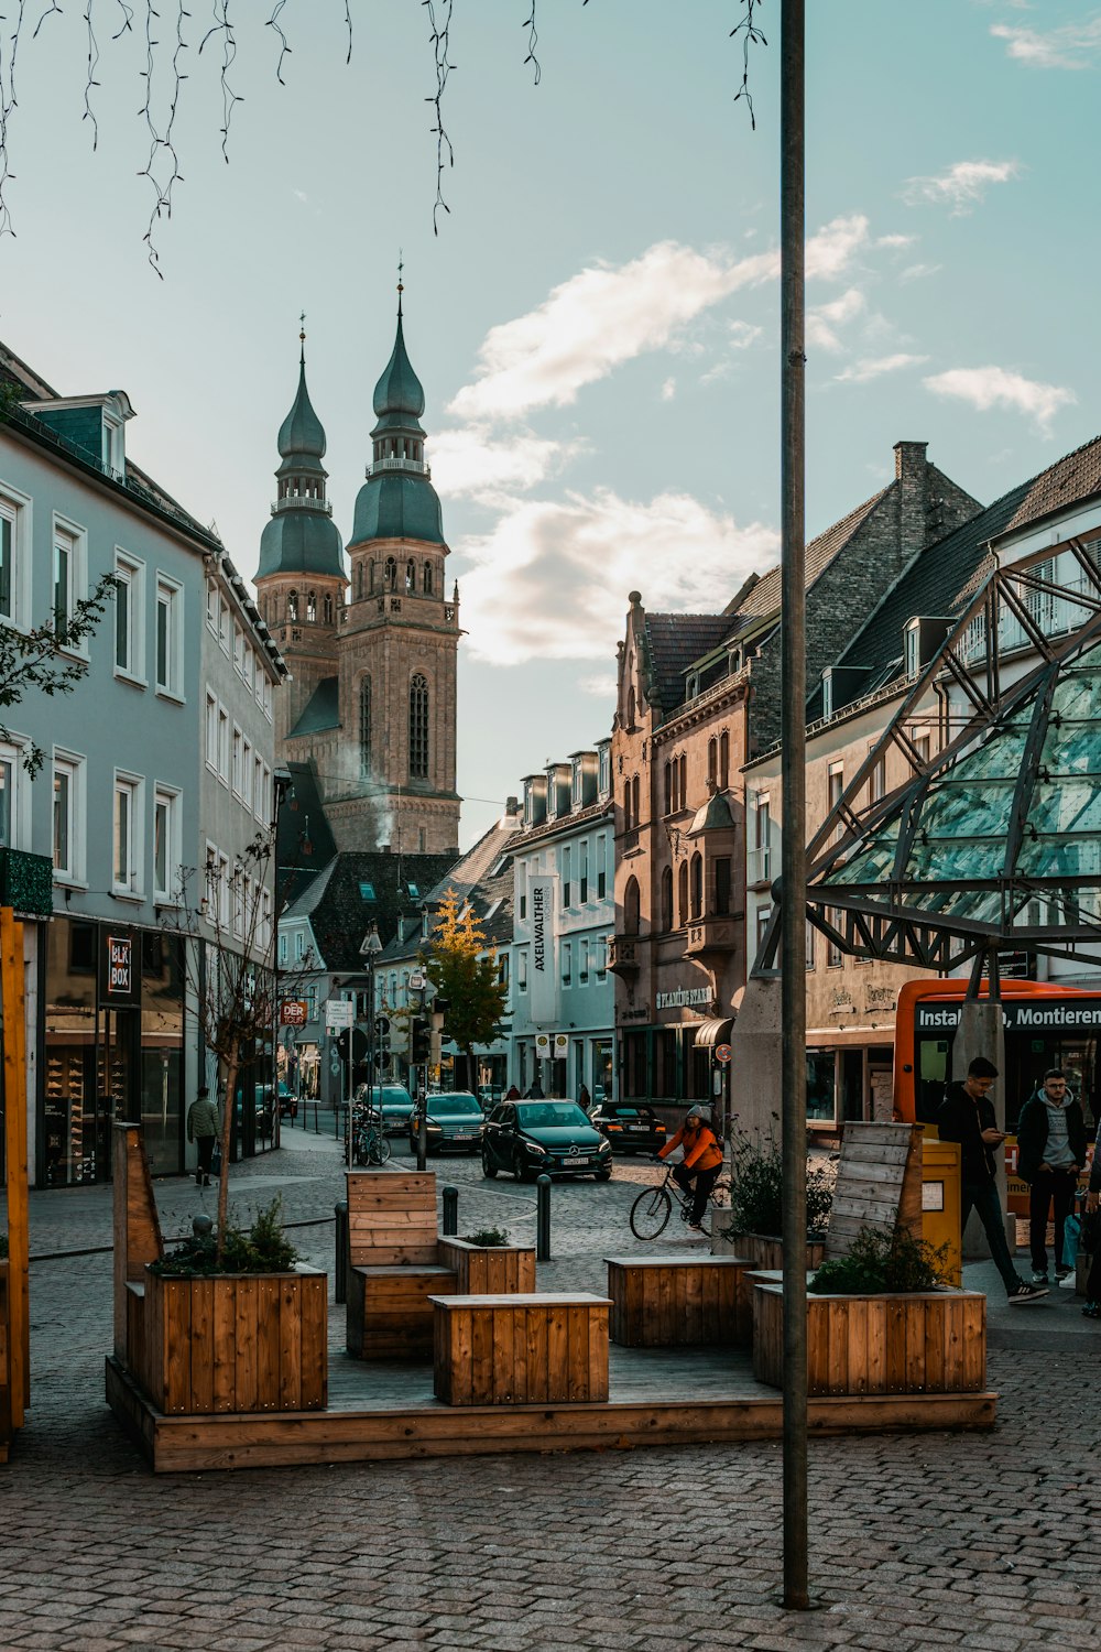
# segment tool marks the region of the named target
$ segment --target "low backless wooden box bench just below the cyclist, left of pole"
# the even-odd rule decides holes
[[[609,1335],[624,1348],[678,1348],[749,1340],[751,1303],[736,1256],[607,1257]]]

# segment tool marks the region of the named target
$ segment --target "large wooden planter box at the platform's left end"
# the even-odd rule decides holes
[[[328,1398],[328,1280],[291,1274],[163,1277],[127,1290],[129,1366],[154,1406],[324,1411]]]

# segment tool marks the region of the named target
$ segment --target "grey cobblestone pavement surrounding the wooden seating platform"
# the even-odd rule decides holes
[[[281,1191],[289,1221],[328,1218],[337,1151],[284,1140],[234,1175],[238,1213]],[[606,1186],[555,1189],[541,1284],[602,1282],[601,1257],[627,1247],[632,1181],[649,1175],[627,1165]],[[465,1163],[442,1166],[447,1180],[461,1231],[532,1231],[530,1188],[482,1183]],[[185,1232],[200,1199],[160,1184],[165,1229]],[[35,1256],[109,1242],[107,1189],[31,1204]],[[332,1226],[294,1237],[330,1260]],[[1078,1307],[1070,1294],[1027,1310],[992,1300],[994,1434],[812,1442],[822,1607],[794,1614],[776,1604],[773,1442],[154,1479],[102,1398],[111,1257],[36,1260],[35,1406],[0,1469],[0,1652],[1084,1647],[1101,1327]]]

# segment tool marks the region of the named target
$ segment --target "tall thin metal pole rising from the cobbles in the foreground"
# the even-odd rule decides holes
[[[807,1611],[806,0],[781,7],[784,1606]]]

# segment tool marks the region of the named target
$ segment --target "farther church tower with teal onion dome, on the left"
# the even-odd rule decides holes
[[[259,611],[291,669],[276,695],[279,762],[310,755],[287,747],[302,722],[317,724],[317,732],[335,727],[337,634],[348,583],[340,530],[325,497],[325,431],[305,388],[305,334],[299,344],[299,392],[279,430],[277,499],[261,535],[256,573]]]

